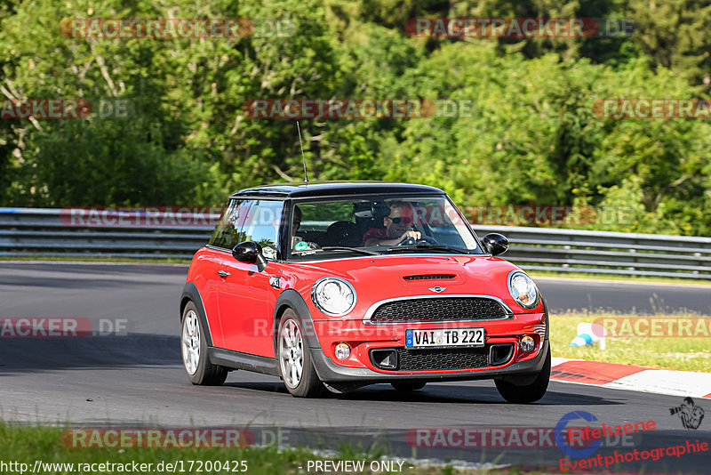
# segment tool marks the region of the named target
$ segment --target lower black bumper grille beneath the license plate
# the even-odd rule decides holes
[[[388,353],[396,357],[387,359],[388,366],[382,365]],[[487,344],[481,348],[380,348],[371,350],[371,362],[390,371],[443,371],[500,366],[510,361],[513,355],[512,343]]]

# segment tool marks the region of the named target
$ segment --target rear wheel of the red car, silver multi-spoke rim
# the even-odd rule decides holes
[[[188,380],[193,384],[220,386],[227,379],[228,369],[213,365],[207,355],[203,323],[193,302],[188,302],[180,319],[180,352]]]

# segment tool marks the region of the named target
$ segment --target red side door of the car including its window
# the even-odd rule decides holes
[[[284,202],[254,200],[240,233],[243,241],[262,246],[268,261],[277,259],[279,225]],[[238,262],[230,254],[221,262],[228,273],[220,283],[220,324],[225,348],[252,355],[273,357],[271,337],[274,292],[269,279],[278,277],[275,265],[261,272],[256,264]]]

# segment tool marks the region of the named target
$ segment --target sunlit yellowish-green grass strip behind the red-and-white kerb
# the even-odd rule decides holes
[[[550,316],[550,341],[553,356],[558,358],[578,358],[623,365],[646,366],[659,369],[702,371],[711,373],[711,348],[708,337],[667,338],[635,337],[608,338],[605,350],[597,346],[574,348],[569,346],[577,335],[579,323],[594,323],[596,318],[639,317],[611,312],[571,312]],[[645,317],[649,317],[645,315]],[[654,315],[667,318],[698,318],[699,315],[676,313]]]

